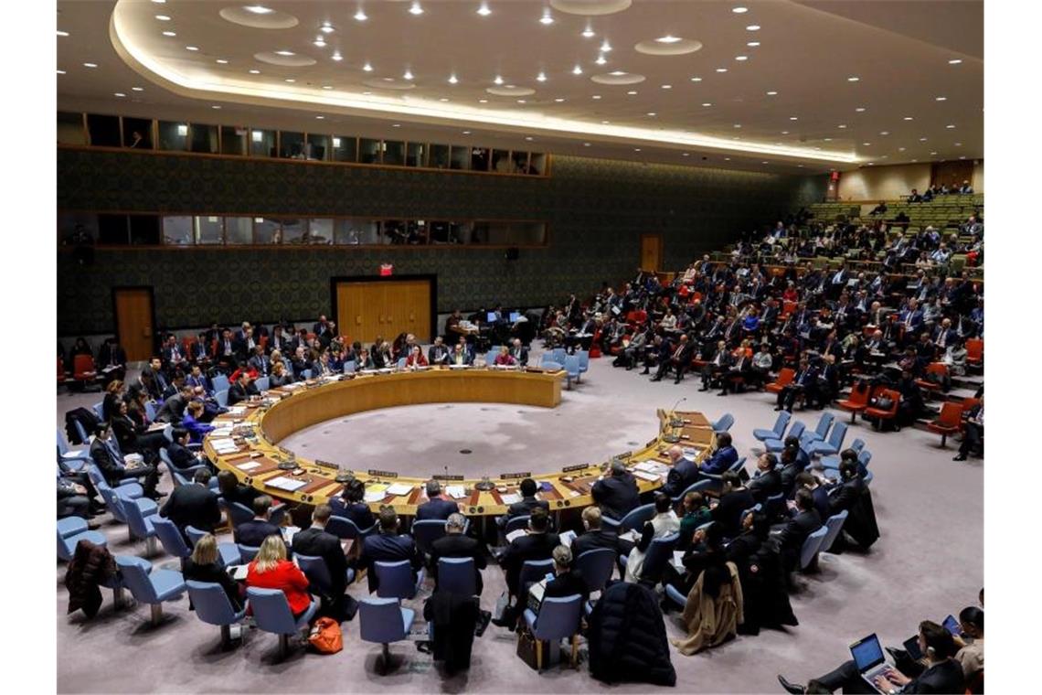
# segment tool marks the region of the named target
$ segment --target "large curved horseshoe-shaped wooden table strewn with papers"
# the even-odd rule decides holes
[[[327,381],[295,384],[293,389],[273,389],[257,403],[240,404],[233,412],[215,419],[218,431],[206,437],[203,447],[219,469],[229,470],[243,482],[265,494],[293,502],[319,504],[340,494],[337,482],[344,470],[334,464],[295,456],[278,443],[295,431],[311,425],[364,411],[396,405],[441,402],[496,402],[555,407],[561,403],[564,372],[527,369],[431,368],[417,372],[357,374]],[[680,444],[695,450],[695,457],[705,457],[713,444],[713,429],[701,413],[659,411],[659,430],[640,450],[619,455],[637,476],[641,492],[655,490],[665,481],[669,458],[666,449]],[[223,431],[221,431],[223,429]],[[230,430],[230,431],[229,431]],[[284,470],[291,463],[296,470]],[[280,468],[279,465],[283,468]],[[491,490],[480,490],[482,480],[458,476],[433,476],[452,486],[461,511],[468,516],[500,515],[523,477],[532,477],[541,486],[539,497],[550,503],[551,511],[580,508],[593,502],[591,486],[601,474],[603,462],[576,463],[556,472],[490,472]],[[392,504],[400,515],[416,514],[426,501],[423,466],[412,476],[379,470],[352,470],[366,482],[367,501],[377,511]],[[390,486],[394,486],[391,488]],[[477,487],[475,487],[477,486]],[[384,494],[380,495],[380,492]],[[394,494],[400,493],[400,494]]]

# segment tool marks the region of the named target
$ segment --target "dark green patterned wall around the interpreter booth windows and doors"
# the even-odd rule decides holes
[[[438,276],[440,312],[536,306],[628,276],[640,234],[662,233],[666,267],[728,243],[779,210],[815,202],[824,177],[553,158],[549,178],[59,149],[59,210],[357,215],[545,220],[546,248],[445,247],[98,250],[58,253],[58,333],[114,328],[111,288],[152,286],[160,327],[213,320],[311,319],[330,312],[329,278]]]

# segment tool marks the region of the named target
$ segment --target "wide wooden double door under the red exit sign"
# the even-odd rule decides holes
[[[337,327],[352,341],[372,343],[377,336],[393,341],[398,333],[429,342],[432,330],[433,280],[338,280]]]

